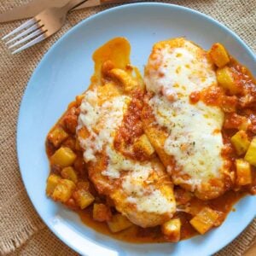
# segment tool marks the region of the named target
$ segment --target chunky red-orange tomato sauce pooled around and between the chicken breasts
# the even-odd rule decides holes
[[[116,45],[119,45],[119,41],[115,42]],[[122,49],[122,47],[120,48]],[[107,63],[102,67],[102,63],[107,61],[110,57],[111,61],[117,66],[125,67],[129,58],[130,48],[124,46],[123,49],[118,52],[116,55],[111,55],[111,47],[107,45],[107,48],[101,48],[94,55],[94,59],[96,61],[96,73],[92,78],[92,81],[97,84],[101,83],[101,79],[106,79],[104,74],[108,74],[108,70],[112,68],[112,66]],[[125,59],[121,56],[125,55]],[[236,172],[234,161],[237,158],[242,156],[238,156],[236,154],[236,150],[232,147],[230,143],[230,137],[232,137],[236,131],[238,126],[242,125],[245,119],[249,119],[251,124],[247,127],[248,137],[252,138],[256,134],[256,84],[255,80],[251,74],[247,71],[246,67],[241,66],[237,61],[231,58],[229,67],[231,68],[234,76],[236,78],[237,83],[241,88],[241,93],[237,96],[230,96],[228,94],[224,94],[224,91],[220,88],[210,87],[207,90],[203,91],[195,91],[191,93],[189,96],[189,100],[191,103],[195,104],[196,102],[202,100],[207,105],[211,106],[220,106],[225,113],[225,121],[224,127],[222,129],[222,134],[224,137],[224,145],[222,155],[231,160],[231,165],[229,166],[230,170]],[[108,79],[108,78],[107,78]],[[139,154],[132,149],[132,144],[136,137],[140,137],[143,135],[143,124],[141,121],[141,116],[143,115],[144,119],[151,120],[154,119],[154,115],[152,112],[147,110],[147,108],[143,108],[143,91],[135,91],[134,94],[136,96],[133,97],[129,105],[129,111],[125,114],[122,125],[119,127],[119,131],[117,132],[117,136],[114,139],[114,147],[117,148],[122,154],[131,157],[137,160],[146,160],[146,157],[143,154]],[[147,97],[150,98],[150,95],[145,96],[144,103],[147,104]],[[67,109],[67,112],[61,117],[61,119],[56,123],[53,127],[60,127],[67,132],[67,138],[61,142],[58,146],[54,146],[53,143],[50,142],[49,137],[46,140],[46,152],[48,157],[55,153],[55,151],[61,146],[65,146],[71,148],[75,154],[77,154],[77,159],[73,163],[73,168],[78,174],[80,183],[87,183],[90,193],[95,196],[96,203],[104,204],[109,207],[109,214],[114,214],[116,210],[113,207],[113,204],[109,199],[105,196],[100,195],[97,191],[101,192],[101,188],[95,188],[94,184],[90,182],[88,177],[87,166],[83,160],[83,151],[79,148],[76,137],[76,127],[78,124],[79,117],[79,104],[81,102],[72,102]],[[145,110],[146,109],[146,110]],[[53,131],[53,129],[51,131]],[[154,134],[157,135],[159,132],[160,137],[165,138],[166,131],[164,129],[158,130],[156,127]],[[81,133],[84,132],[84,137],[86,137],[86,132],[88,131],[79,131]],[[216,131],[219,132],[219,131]],[[154,145],[154,147],[160,147],[159,145]],[[161,155],[160,155],[161,158]],[[171,163],[171,165],[175,165],[173,163],[172,158],[161,158],[163,163],[167,166]],[[97,163],[98,165],[106,165],[108,160],[102,156],[102,160]],[[218,226],[224,222],[224,219],[228,215],[230,211],[234,211],[234,204],[236,201],[239,201],[244,195],[247,194],[256,194],[256,168],[252,166],[253,171],[253,183],[247,186],[243,186],[242,188],[236,188],[230,180],[226,182],[226,189],[228,190],[224,195],[218,197],[217,199],[210,201],[202,201],[196,198],[192,193],[182,189],[178,186],[175,186],[174,193],[177,201],[177,207],[181,207],[184,205],[189,205],[190,214],[183,212],[181,207],[180,211],[176,213],[175,217],[180,218],[182,222],[181,228],[181,239],[188,239],[191,236],[198,235],[195,229],[189,224],[189,220],[193,218],[193,216],[201,211],[202,207],[211,207],[213,210],[219,213],[218,221],[215,223],[215,226]],[[51,165],[50,172],[60,175],[61,167]],[[212,180],[212,185],[216,185],[214,180]],[[238,191],[239,190],[239,191]],[[160,230],[160,226],[154,228],[143,229],[137,225],[131,226],[131,228],[127,230],[123,230],[119,233],[113,234],[108,229],[108,224],[106,222],[96,221],[92,218],[92,205],[90,207],[86,207],[84,210],[80,210],[76,205],[74,198],[71,197],[65,205],[71,208],[73,211],[78,212],[80,218],[90,228],[101,232],[105,235],[112,236],[115,239],[123,240],[123,241],[131,241],[135,243],[139,242],[163,242],[168,241],[166,237],[162,234]],[[103,218],[101,218],[102,220]]]

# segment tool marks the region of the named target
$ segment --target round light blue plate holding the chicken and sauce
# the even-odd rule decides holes
[[[73,14],[75,15],[75,13]],[[131,43],[131,62],[143,71],[152,45],[185,36],[205,49],[221,42],[256,75],[253,52],[225,26],[191,9],[161,3],[138,3],[108,9],[73,27],[49,49],[32,75],[23,97],[17,132],[20,172],[27,193],[45,224],[56,236],[84,255],[209,255],[232,241],[256,212],[256,197],[247,196],[236,212],[206,236],[177,244],[130,244],[96,233],[77,214],[46,198],[49,164],[44,151],[47,132],[73,98],[83,92],[93,73],[91,55],[114,37]]]

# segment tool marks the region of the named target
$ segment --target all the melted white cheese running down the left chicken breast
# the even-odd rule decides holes
[[[174,212],[175,203],[166,199],[160,190],[154,186],[145,188],[144,182],[147,182],[155,167],[150,162],[126,159],[113,147],[115,132],[121,125],[129,102],[129,96],[115,96],[99,105],[96,90],[85,93],[78,126],[78,130],[86,127],[90,132],[90,137],[86,139],[79,137],[80,145],[84,148],[84,160],[96,162],[97,152],[105,150],[108,166],[102,170],[102,175],[123,180],[122,189],[127,195],[126,201],[135,204],[138,212]],[[120,177],[122,171],[126,171],[127,175]]]

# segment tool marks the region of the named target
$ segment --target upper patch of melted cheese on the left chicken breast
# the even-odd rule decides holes
[[[96,153],[102,152],[104,145],[107,146],[107,153],[112,153],[110,145],[113,144],[114,131],[121,124],[130,101],[128,96],[117,96],[100,106],[97,104],[96,90],[86,92],[80,107],[78,126],[78,129],[85,126],[90,132],[90,137],[87,139],[80,138],[81,147],[84,148],[85,162],[96,161]],[[113,163],[115,157],[112,157]]]

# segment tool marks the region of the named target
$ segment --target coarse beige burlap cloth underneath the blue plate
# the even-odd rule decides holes
[[[0,0],[0,13],[27,2],[29,1]],[[212,16],[229,26],[254,52],[256,51],[256,0],[162,2],[182,4]],[[61,32],[19,55],[10,55],[3,43],[0,43],[0,254],[76,255],[49,231],[26,195],[15,150],[16,123],[27,81],[44,53],[80,20],[109,7],[75,11],[68,16],[67,23]],[[15,21],[0,25],[0,38],[21,22]],[[241,236],[238,236],[218,255],[242,255],[252,245],[255,235],[256,219]]]

